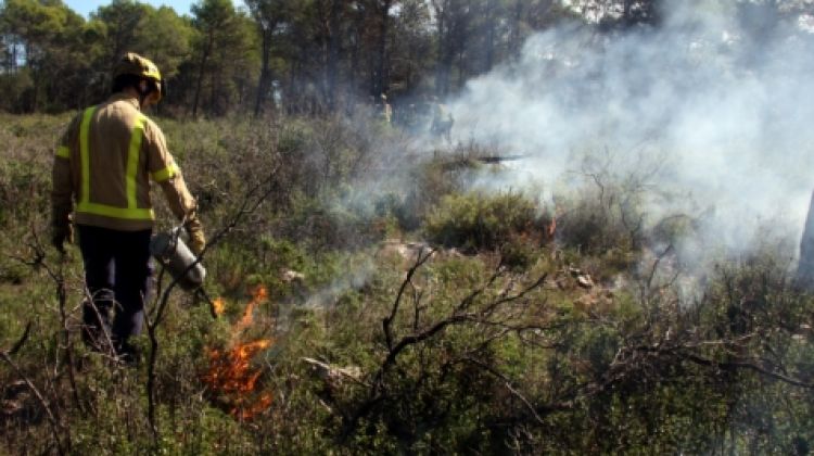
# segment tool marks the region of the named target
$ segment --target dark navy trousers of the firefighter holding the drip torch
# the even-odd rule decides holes
[[[118,231],[77,226],[85,262],[85,283],[93,304],[86,302],[82,320],[86,341],[106,346],[110,337],[117,352],[127,351],[127,339],[141,333],[150,276],[152,230]],[[111,325],[111,314],[114,314]]]

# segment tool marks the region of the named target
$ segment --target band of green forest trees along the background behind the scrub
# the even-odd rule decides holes
[[[0,3],[0,110],[63,112],[98,102],[126,51],[168,80],[165,115],[351,111],[385,94],[447,97],[518,58],[535,31],[577,22],[613,34],[657,27],[659,0],[200,0],[190,15],[113,0],[86,20],[60,0]],[[740,2],[760,29],[805,2]],[[768,20],[766,18],[768,17]]]

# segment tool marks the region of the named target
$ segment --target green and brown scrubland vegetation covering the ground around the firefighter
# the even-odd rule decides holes
[[[336,119],[161,121],[225,311],[214,319],[156,274],[140,363],[120,366],[80,341],[78,249],[48,246],[66,121],[0,122],[3,453],[806,454],[814,442],[814,301],[789,278],[793,245],[709,253],[714,267],[687,270],[674,245],[694,236],[692,214],[645,224],[638,187],[593,174],[556,206],[474,191],[468,176],[494,168],[474,160],[484,151]],[[245,388],[218,388],[213,353],[256,341]]]

